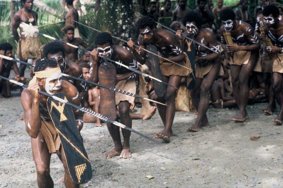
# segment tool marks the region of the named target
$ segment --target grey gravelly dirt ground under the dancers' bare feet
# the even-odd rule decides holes
[[[171,143],[162,146],[132,133],[129,159],[105,159],[113,148],[106,125],[85,123],[81,134],[93,177],[80,187],[283,187],[282,126],[272,122],[278,112],[261,113],[266,105],[248,105],[249,119],[243,123],[230,120],[237,109],[209,108],[210,125],[195,133],[186,128],[196,115],[176,112]],[[1,187],[37,187],[30,137],[24,121],[17,120],[21,116],[16,93],[0,100]],[[153,137],[163,125],[156,113],[150,120],[133,120],[133,129]],[[260,138],[252,141],[254,136]],[[64,169],[55,154],[50,171],[54,187],[65,187],[58,182]]]

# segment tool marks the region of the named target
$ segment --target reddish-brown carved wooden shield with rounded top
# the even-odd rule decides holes
[[[115,88],[116,68],[111,63],[101,63],[98,68],[98,80],[102,85]],[[100,88],[99,113],[111,120],[116,120],[115,92],[106,88]]]

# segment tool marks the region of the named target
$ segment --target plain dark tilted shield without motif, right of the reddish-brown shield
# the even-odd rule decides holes
[[[151,51],[152,53],[157,54],[157,49],[155,46],[147,46],[147,50]],[[159,80],[163,81],[163,77],[161,74],[159,59],[152,53],[147,53],[147,59],[150,64],[150,70],[152,76]],[[158,82],[157,80],[153,80],[153,88],[154,92],[158,97],[164,97],[166,95],[166,86],[164,83]]]

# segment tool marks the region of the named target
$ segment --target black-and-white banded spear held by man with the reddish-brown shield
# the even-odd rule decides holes
[[[52,40],[55,40],[55,41],[58,41],[58,42],[67,44],[68,46],[72,46],[72,47],[74,47],[74,48],[78,48],[78,49],[83,50],[83,51],[85,51],[85,52],[89,52],[89,53],[91,52],[91,51],[88,51],[88,50],[86,50],[86,49],[84,49],[84,48],[80,48],[80,47],[78,47],[78,46],[75,46],[75,45],[73,45],[73,44],[70,44],[70,43],[68,43],[68,42],[60,41],[59,39],[54,38],[54,37],[52,37],[52,36],[48,36],[48,35],[45,35],[45,34],[42,34],[42,33],[38,33],[38,32],[35,32],[35,33],[40,34],[40,35],[42,35],[42,36],[45,36],[45,37],[47,37],[47,38],[50,38],[50,39],[52,39]],[[146,73],[142,73],[141,71],[136,70],[136,69],[134,69],[134,68],[131,68],[131,67],[129,67],[129,66],[126,66],[126,65],[124,65],[124,64],[122,64],[122,63],[119,63],[118,61],[114,61],[114,60],[112,60],[112,59],[109,59],[109,58],[106,58],[106,57],[100,56],[100,55],[98,55],[98,57],[104,58],[104,59],[106,59],[106,60],[108,60],[108,61],[111,61],[111,62],[113,62],[113,63],[116,63],[116,64],[118,64],[118,65],[120,65],[120,66],[126,67],[127,69],[129,69],[129,70],[131,70],[131,71],[133,71],[133,72],[135,72],[135,73],[138,73],[138,74],[143,75],[143,76],[148,77],[148,78],[152,78],[152,79],[154,79],[154,80],[157,80],[158,82],[164,83],[164,84],[166,84],[166,85],[169,85],[169,86],[171,86],[171,87],[177,89],[176,87],[174,87],[173,85],[171,85],[171,84],[169,84],[169,83],[163,82],[162,80],[159,80],[159,79],[157,79],[157,78],[154,78],[154,77],[152,77],[151,75],[148,75],[148,74],[146,74]]]

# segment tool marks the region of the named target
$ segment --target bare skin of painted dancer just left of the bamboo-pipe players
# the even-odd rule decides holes
[[[199,43],[203,43],[205,46],[209,48],[213,48],[213,46],[218,46],[218,42],[213,35],[211,31],[208,29],[203,29],[198,26],[196,26],[196,23],[193,22],[186,22],[186,24],[194,24],[193,27],[187,27],[187,31],[183,33],[183,35],[194,35],[195,33],[192,32],[192,29],[197,28],[198,32],[196,33],[195,40]],[[185,40],[181,36],[182,31],[178,30],[176,35],[180,37],[181,40],[183,40],[183,43]],[[215,49],[214,49],[215,50]],[[219,52],[219,51],[218,51]],[[203,54],[207,54],[206,56],[203,56]],[[212,63],[211,70],[204,76],[204,78],[196,78],[196,85],[195,88],[190,90],[191,96],[192,96],[192,102],[195,106],[195,109],[197,110],[197,119],[195,123],[188,128],[188,131],[191,132],[197,132],[200,130],[201,127],[209,125],[206,112],[208,110],[209,100],[208,100],[208,94],[210,92],[210,88],[218,76],[218,72],[221,66],[221,60],[220,60],[220,53],[213,53],[207,48],[204,48],[203,46],[196,45],[196,56],[195,56],[195,63],[202,63],[203,66],[208,65],[208,62]],[[197,67],[198,68],[198,67]]]

